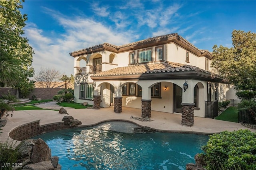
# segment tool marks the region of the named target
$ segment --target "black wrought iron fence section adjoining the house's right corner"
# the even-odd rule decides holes
[[[204,106],[205,106],[204,117],[214,119],[214,117],[218,116],[218,101],[216,102],[205,101]]]

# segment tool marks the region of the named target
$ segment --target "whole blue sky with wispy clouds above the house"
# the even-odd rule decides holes
[[[178,33],[199,49],[232,47],[234,29],[256,32],[256,1],[25,0],[32,66],[74,74],[72,51]]]

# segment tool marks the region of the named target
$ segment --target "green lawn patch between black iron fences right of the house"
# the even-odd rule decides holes
[[[238,111],[237,107],[228,107],[220,115],[215,117],[217,120],[238,122]]]

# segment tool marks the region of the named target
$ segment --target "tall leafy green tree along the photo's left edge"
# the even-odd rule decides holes
[[[29,77],[34,75],[31,66],[34,51],[28,44],[28,39],[22,37],[25,21],[28,20],[27,15],[22,15],[19,10],[23,8],[22,2],[24,0],[0,0],[1,61],[5,61],[1,62],[2,86],[20,88],[21,84],[29,82]],[[5,67],[7,71],[2,72]]]

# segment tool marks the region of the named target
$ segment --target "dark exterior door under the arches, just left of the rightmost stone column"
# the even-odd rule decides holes
[[[182,88],[174,84],[173,88],[173,111],[177,113],[181,113],[181,103],[182,103]]]

